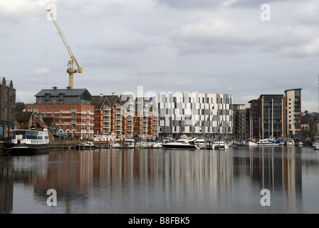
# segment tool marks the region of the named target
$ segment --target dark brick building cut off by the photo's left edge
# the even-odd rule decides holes
[[[0,83],[0,138],[7,138],[16,120],[16,89],[4,77],[0,77]]]

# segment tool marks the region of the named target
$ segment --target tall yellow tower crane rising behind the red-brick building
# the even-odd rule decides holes
[[[58,25],[58,21],[56,21],[56,18],[54,17],[51,9],[47,9],[46,11],[48,11],[48,13],[51,15],[52,21],[54,22],[54,24],[56,25],[56,28],[58,29],[58,34],[61,36],[63,43],[66,46],[66,49],[68,50],[68,53],[70,55],[70,61],[68,61],[68,70],[66,72],[68,73],[68,86],[70,86],[70,88],[73,88],[73,73],[82,73],[83,70],[82,68],[80,68],[80,66],[78,66],[78,61],[76,61],[70,46],[68,46],[66,37],[63,35],[63,32],[60,26]],[[76,70],[73,67],[74,65],[78,67]]]

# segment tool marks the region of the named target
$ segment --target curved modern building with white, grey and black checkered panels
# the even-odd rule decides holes
[[[150,98],[160,115],[160,135],[231,138],[233,97],[220,93],[165,93]]]

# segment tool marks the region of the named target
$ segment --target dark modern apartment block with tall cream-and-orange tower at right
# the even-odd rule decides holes
[[[253,138],[301,138],[301,88],[250,100]]]

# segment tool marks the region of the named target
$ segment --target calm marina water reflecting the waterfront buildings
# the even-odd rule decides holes
[[[319,213],[312,147],[52,150],[0,157],[0,172],[0,213]]]

